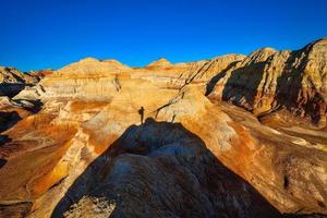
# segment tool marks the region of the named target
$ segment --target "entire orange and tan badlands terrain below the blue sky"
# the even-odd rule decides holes
[[[0,68],[0,217],[327,217],[327,38]]]

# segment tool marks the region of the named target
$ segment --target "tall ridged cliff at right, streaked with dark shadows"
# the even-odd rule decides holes
[[[326,125],[327,39],[296,51],[261,49],[216,77],[208,84],[210,99],[231,101],[256,116],[287,110]]]

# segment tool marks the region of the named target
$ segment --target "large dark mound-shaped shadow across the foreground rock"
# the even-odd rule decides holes
[[[279,217],[180,123],[131,125],[75,180],[51,217]]]

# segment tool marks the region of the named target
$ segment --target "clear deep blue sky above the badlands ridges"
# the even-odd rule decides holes
[[[192,61],[322,37],[327,0],[0,0],[0,65],[23,71],[85,57]]]

